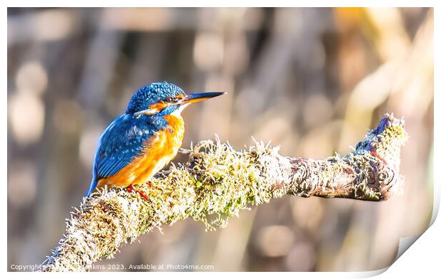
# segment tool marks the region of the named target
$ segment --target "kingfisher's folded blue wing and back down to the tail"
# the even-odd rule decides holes
[[[143,118],[122,115],[102,133],[95,154],[92,184],[87,196],[95,189],[97,181],[117,174],[139,156],[146,140],[163,126],[163,123],[146,121]]]

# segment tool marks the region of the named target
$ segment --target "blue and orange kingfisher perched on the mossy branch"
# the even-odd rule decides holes
[[[85,196],[102,186],[149,183],[173,159],[184,137],[181,111],[193,103],[226,92],[185,93],[173,83],[151,83],[139,88],[125,113],[100,136]],[[141,194],[141,193],[140,193]]]

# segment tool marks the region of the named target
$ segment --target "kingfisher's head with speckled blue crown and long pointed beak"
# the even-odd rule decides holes
[[[173,83],[151,83],[132,96],[126,113],[133,115],[169,115],[192,102],[207,100],[226,92],[185,93]]]

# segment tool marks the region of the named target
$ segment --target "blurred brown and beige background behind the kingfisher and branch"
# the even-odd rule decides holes
[[[286,196],[206,232],[152,231],[100,264],[375,270],[432,215],[432,9],[8,9],[8,268],[41,263],[87,190],[97,138],[156,80],[228,95],[184,111],[191,142],[324,159],[404,117],[403,196]],[[184,162],[179,154],[174,162]]]

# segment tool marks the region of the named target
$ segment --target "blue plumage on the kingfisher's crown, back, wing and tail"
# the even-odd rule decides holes
[[[144,142],[154,132],[166,127],[167,122],[164,115],[173,112],[179,106],[166,107],[166,110],[156,115],[135,116],[134,113],[147,110],[149,105],[179,94],[185,95],[184,91],[178,86],[165,82],[151,83],[139,88],[134,93],[127,106],[126,113],[110,123],[98,141],[92,182],[86,196],[89,196],[95,190],[97,181],[117,174],[127,164],[130,164],[134,158],[139,156],[144,147]]]

